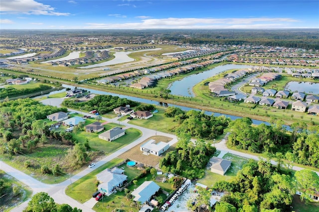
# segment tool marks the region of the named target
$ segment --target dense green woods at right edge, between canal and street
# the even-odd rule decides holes
[[[319,168],[319,126],[300,121],[291,125],[292,131],[278,120],[271,126],[252,126],[250,118],[241,118],[229,124],[227,144],[257,153],[276,154],[303,165]]]

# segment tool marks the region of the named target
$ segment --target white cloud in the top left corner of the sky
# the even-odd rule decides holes
[[[55,8],[35,0],[1,0],[1,13],[24,13],[34,15],[69,15],[70,13],[56,12]]]

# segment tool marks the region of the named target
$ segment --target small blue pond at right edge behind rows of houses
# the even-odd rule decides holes
[[[318,95],[319,94],[319,83],[309,83],[309,82],[289,82],[287,86],[285,87],[285,90],[291,91],[291,92],[302,92],[306,94],[313,94]]]

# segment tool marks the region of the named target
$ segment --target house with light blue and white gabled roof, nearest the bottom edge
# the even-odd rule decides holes
[[[135,189],[131,194],[135,197],[135,202],[142,204],[149,202],[153,195],[160,190],[160,186],[153,181],[145,181],[141,186]]]

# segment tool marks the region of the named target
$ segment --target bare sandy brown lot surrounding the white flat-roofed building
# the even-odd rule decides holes
[[[122,155],[119,156],[119,158],[122,159],[131,159],[131,160],[135,160],[135,161],[139,161],[143,164],[147,164],[153,167],[158,167],[158,164],[160,163],[160,158],[159,156],[156,155],[144,155],[142,153],[142,151],[140,150],[140,146],[146,142],[148,142],[149,140],[156,140],[156,142],[165,142],[168,143],[170,140],[172,140],[172,138],[170,137],[165,137],[165,136],[152,136],[149,137],[148,139],[146,139],[145,141],[143,141],[141,144],[133,147],[132,149],[126,151],[125,153],[123,153]],[[169,147],[169,149],[166,152],[171,151],[172,149],[174,149],[173,147]],[[165,153],[166,153],[165,152]],[[165,153],[163,155],[165,155]]]

